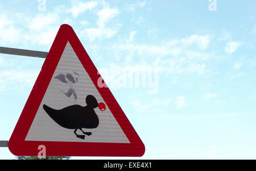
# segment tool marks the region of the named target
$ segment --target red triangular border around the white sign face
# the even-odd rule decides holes
[[[130,143],[24,141],[68,41]],[[98,70],[90,60],[73,28],[68,24],[61,25],[10,137],[10,151],[16,156],[38,156],[38,146],[45,145],[47,156],[143,156],[144,144],[109,88],[97,86],[99,77],[101,76],[98,74]]]

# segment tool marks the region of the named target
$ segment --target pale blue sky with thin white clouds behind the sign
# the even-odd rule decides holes
[[[216,2],[210,11],[208,0],[46,0],[45,10],[42,1],[6,1],[0,46],[49,51],[70,24],[145,144],[142,159],[256,159],[256,2]],[[43,61],[0,55],[1,140]],[[152,70],[154,87],[118,87],[123,69]],[[0,148],[0,159],[14,158]]]

